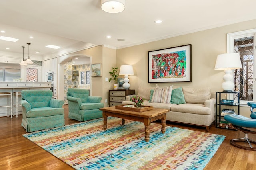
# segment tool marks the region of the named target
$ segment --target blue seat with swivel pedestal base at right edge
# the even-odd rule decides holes
[[[244,132],[244,137],[239,139],[231,139],[230,144],[246,150],[254,150],[256,151],[256,147],[253,147],[251,143],[256,144],[256,141],[253,141],[252,139],[249,139],[248,134],[256,134],[256,131],[253,130],[253,128],[256,128],[256,112],[253,112],[253,109],[256,108],[255,102],[248,102],[247,103],[251,107],[251,119],[248,117],[244,117],[242,115],[225,115],[224,119],[228,121],[229,123],[232,123],[236,129]],[[246,129],[250,128],[250,129]],[[245,145],[240,145],[239,142],[246,142],[249,144],[250,147],[247,147]]]

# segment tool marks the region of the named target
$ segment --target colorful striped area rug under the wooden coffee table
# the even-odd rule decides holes
[[[75,169],[92,170],[202,170],[225,139],[204,133],[151,123],[144,141],[141,122],[108,117],[46,129],[23,136]]]

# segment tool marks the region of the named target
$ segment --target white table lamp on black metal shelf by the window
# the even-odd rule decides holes
[[[226,53],[217,56],[215,63],[215,70],[224,70],[225,75],[222,83],[223,92],[233,92],[234,91],[234,81],[233,81],[233,69],[241,69],[242,64],[240,60],[240,55],[238,53]]]

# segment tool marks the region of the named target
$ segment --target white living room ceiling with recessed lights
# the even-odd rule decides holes
[[[31,43],[30,57],[37,56],[38,50],[42,59],[93,45],[119,49],[256,19],[256,0],[126,0],[125,10],[117,14],[104,12],[100,3],[100,0],[1,0],[0,30],[6,32],[0,35],[19,40],[16,43],[0,40],[0,55],[20,55],[21,46],[26,46],[28,53],[26,43]],[[154,23],[158,19],[163,22]],[[107,39],[106,35],[112,38]],[[46,48],[49,44],[62,48]]]

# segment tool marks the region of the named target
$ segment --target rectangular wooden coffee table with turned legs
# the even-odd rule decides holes
[[[101,108],[102,115],[103,115],[103,129],[107,130],[107,122],[108,116],[112,117],[119,117],[122,118],[122,125],[125,123],[125,119],[134,120],[143,122],[145,125],[145,141],[149,141],[149,134],[150,134],[150,123],[156,120],[161,120],[161,131],[165,133],[165,121],[166,121],[166,113],[169,111],[168,109],[155,109],[144,111],[144,112],[135,112],[135,111],[126,111],[126,110],[119,110],[116,109],[115,106],[112,107],[104,107]]]

